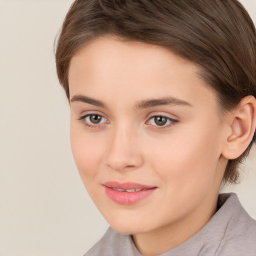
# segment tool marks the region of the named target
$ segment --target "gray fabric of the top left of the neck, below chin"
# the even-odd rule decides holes
[[[132,240],[130,235],[118,233],[109,226],[102,238],[97,243],[95,243],[83,256],[102,255],[133,255]]]

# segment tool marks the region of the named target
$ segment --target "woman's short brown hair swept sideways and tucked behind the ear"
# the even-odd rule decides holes
[[[71,57],[91,40],[113,35],[162,45],[200,67],[223,113],[256,97],[256,31],[237,0],[75,0],[55,44],[56,69],[69,99]],[[228,160],[223,182],[236,183],[241,156]]]

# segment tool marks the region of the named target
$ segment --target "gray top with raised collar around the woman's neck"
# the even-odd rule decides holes
[[[159,256],[256,256],[256,220],[240,204],[235,193],[218,197],[218,211],[191,238]],[[142,256],[131,235],[111,227],[84,256]]]

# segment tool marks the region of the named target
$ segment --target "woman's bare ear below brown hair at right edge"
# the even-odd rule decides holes
[[[256,99],[246,96],[230,114],[229,131],[222,155],[227,159],[239,157],[249,145],[256,126]]]

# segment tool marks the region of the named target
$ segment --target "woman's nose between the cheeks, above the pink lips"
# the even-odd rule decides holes
[[[123,171],[139,168],[143,164],[141,147],[136,131],[119,127],[109,137],[105,162],[112,170]]]

